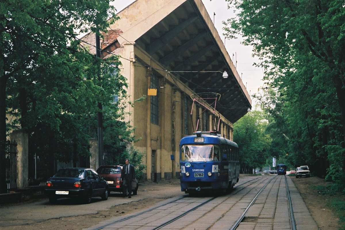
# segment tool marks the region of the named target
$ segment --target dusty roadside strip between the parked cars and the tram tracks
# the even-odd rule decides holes
[[[177,181],[177,180],[176,180]],[[122,198],[120,193],[111,192],[108,200],[92,198],[90,204],[78,204],[70,199],[58,199],[57,204],[50,204],[48,198],[30,203],[10,204],[0,207],[0,227],[41,222],[51,218],[79,216],[97,213],[99,210],[108,210],[113,206],[146,198],[162,198],[180,196],[179,184],[170,184],[162,181],[159,184],[146,181],[139,183],[138,194],[132,198]]]

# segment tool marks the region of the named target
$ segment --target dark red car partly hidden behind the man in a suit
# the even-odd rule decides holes
[[[121,178],[122,164],[119,165],[102,165],[97,169],[98,174],[107,181],[109,185],[109,191],[122,192]],[[138,192],[138,180],[135,179],[132,183],[133,195]]]

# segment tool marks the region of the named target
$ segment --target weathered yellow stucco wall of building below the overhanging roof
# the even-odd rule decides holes
[[[178,81],[172,80],[171,73],[163,71],[163,67],[159,63],[153,62],[149,56],[137,48],[134,42],[125,42],[122,44],[121,62],[123,64],[121,73],[128,80],[128,100],[132,102],[136,99],[147,96],[147,90],[150,85],[150,76],[153,71],[159,77],[159,86],[157,89],[157,97],[159,98],[159,124],[150,122],[150,96],[145,100],[136,102],[134,108],[128,108],[131,115],[132,126],[136,127],[135,135],[141,138],[134,143],[135,148],[144,153],[143,162],[146,164],[147,179],[151,178],[152,173],[157,174],[160,178],[170,179],[179,175],[179,141],[182,137],[187,136],[184,131],[184,103],[185,98],[188,101],[188,134],[193,133],[196,128],[196,110],[193,107],[192,117],[190,110],[192,100],[189,97],[194,92],[186,85]],[[203,109],[199,108],[199,114]],[[211,116],[208,117],[209,130],[214,129],[214,122]],[[221,125],[222,136],[226,135],[227,129],[231,129],[232,124],[223,117],[221,118],[226,124]],[[204,122],[204,121],[203,121]],[[199,124],[202,125],[202,122]],[[152,162],[152,151],[155,152],[155,162]],[[171,160],[174,155],[175,160]],[[152,169],[154,163],[154,169]]]

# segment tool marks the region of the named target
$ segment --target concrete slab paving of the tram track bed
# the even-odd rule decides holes
[[[248,179],[248,181],[251,179]],[[287,177],[287,184],[292,197],[296,229],[317,230],[316,222],[289,177]],[[256,198],[253,206],[250,206],[253,198],[256,197],[256,194],[263,187],[264,189]],[[91,226],[86,230],[115,230],[124,228],[136,230],[160,228],[228,230],[235,224],[247,207],[250,208],[248,208],[245,218],[236,228],[237,230],[292,229],[285,176],[257,177],[254,181],[251,180],[247,184],[238,186],[230,194],[224,194],[213,199],[210,198],[212,196],[187,196],[181,200],[169,200],[164,206],[160,206],[157,209],[150,209],[146,212],[141,212],[141,214],[129,214],[123,217],[112,218]],[[194,207],[198,208],[193,210]],[[178,220],[174,220],[174,218],[178,218]],[[124,219],[126,221],[123,221]]]

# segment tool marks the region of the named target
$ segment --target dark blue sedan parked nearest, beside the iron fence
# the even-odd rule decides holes
[[[88,168],[60,169],[53,177],[48,178],[45,194],[50,203],[59,198],[77,198],[82,203],[90,203],[91,197],[107,200],[109,186],[99,174]]]

